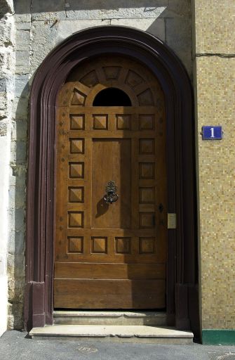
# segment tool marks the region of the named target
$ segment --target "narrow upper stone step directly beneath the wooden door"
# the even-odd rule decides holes
[[[157,311],[54,311],[60,325],[166,325],[166,313]]]

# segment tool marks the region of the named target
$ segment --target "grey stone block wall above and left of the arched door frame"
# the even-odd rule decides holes
[[[21,328],[28,102],[34,72],[47,54],[74,32],[94,26],[124,25],[145,30],[166,41],[191,76],[191,4],[190,0],[17,0],[14,18],[15,113],[11,139],[8,326]]]

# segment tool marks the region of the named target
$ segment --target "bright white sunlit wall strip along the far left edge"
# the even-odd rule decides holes
[[[0,336],[7,323],[8,188],[14,97],[15,26],[12,1],[0,1]]]

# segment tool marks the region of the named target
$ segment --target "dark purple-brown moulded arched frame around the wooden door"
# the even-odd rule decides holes
[[[69,72],[102,54],[138,59],[159,79],[166,99],[168,325],[199,335],[196,243],[196,175],[192,85],[181,61],[147,32],[122,26],[92,27],[59,44],[36,71],[30,96],[26,212],[25,328],[53,323],[55,221],[55,103]]]

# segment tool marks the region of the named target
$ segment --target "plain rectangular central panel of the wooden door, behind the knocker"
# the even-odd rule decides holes
[[[129,229],[130,139],[93,139],[93,229]],[[115,180],[121,196],[112,206],[105,203],[105,186]]]

